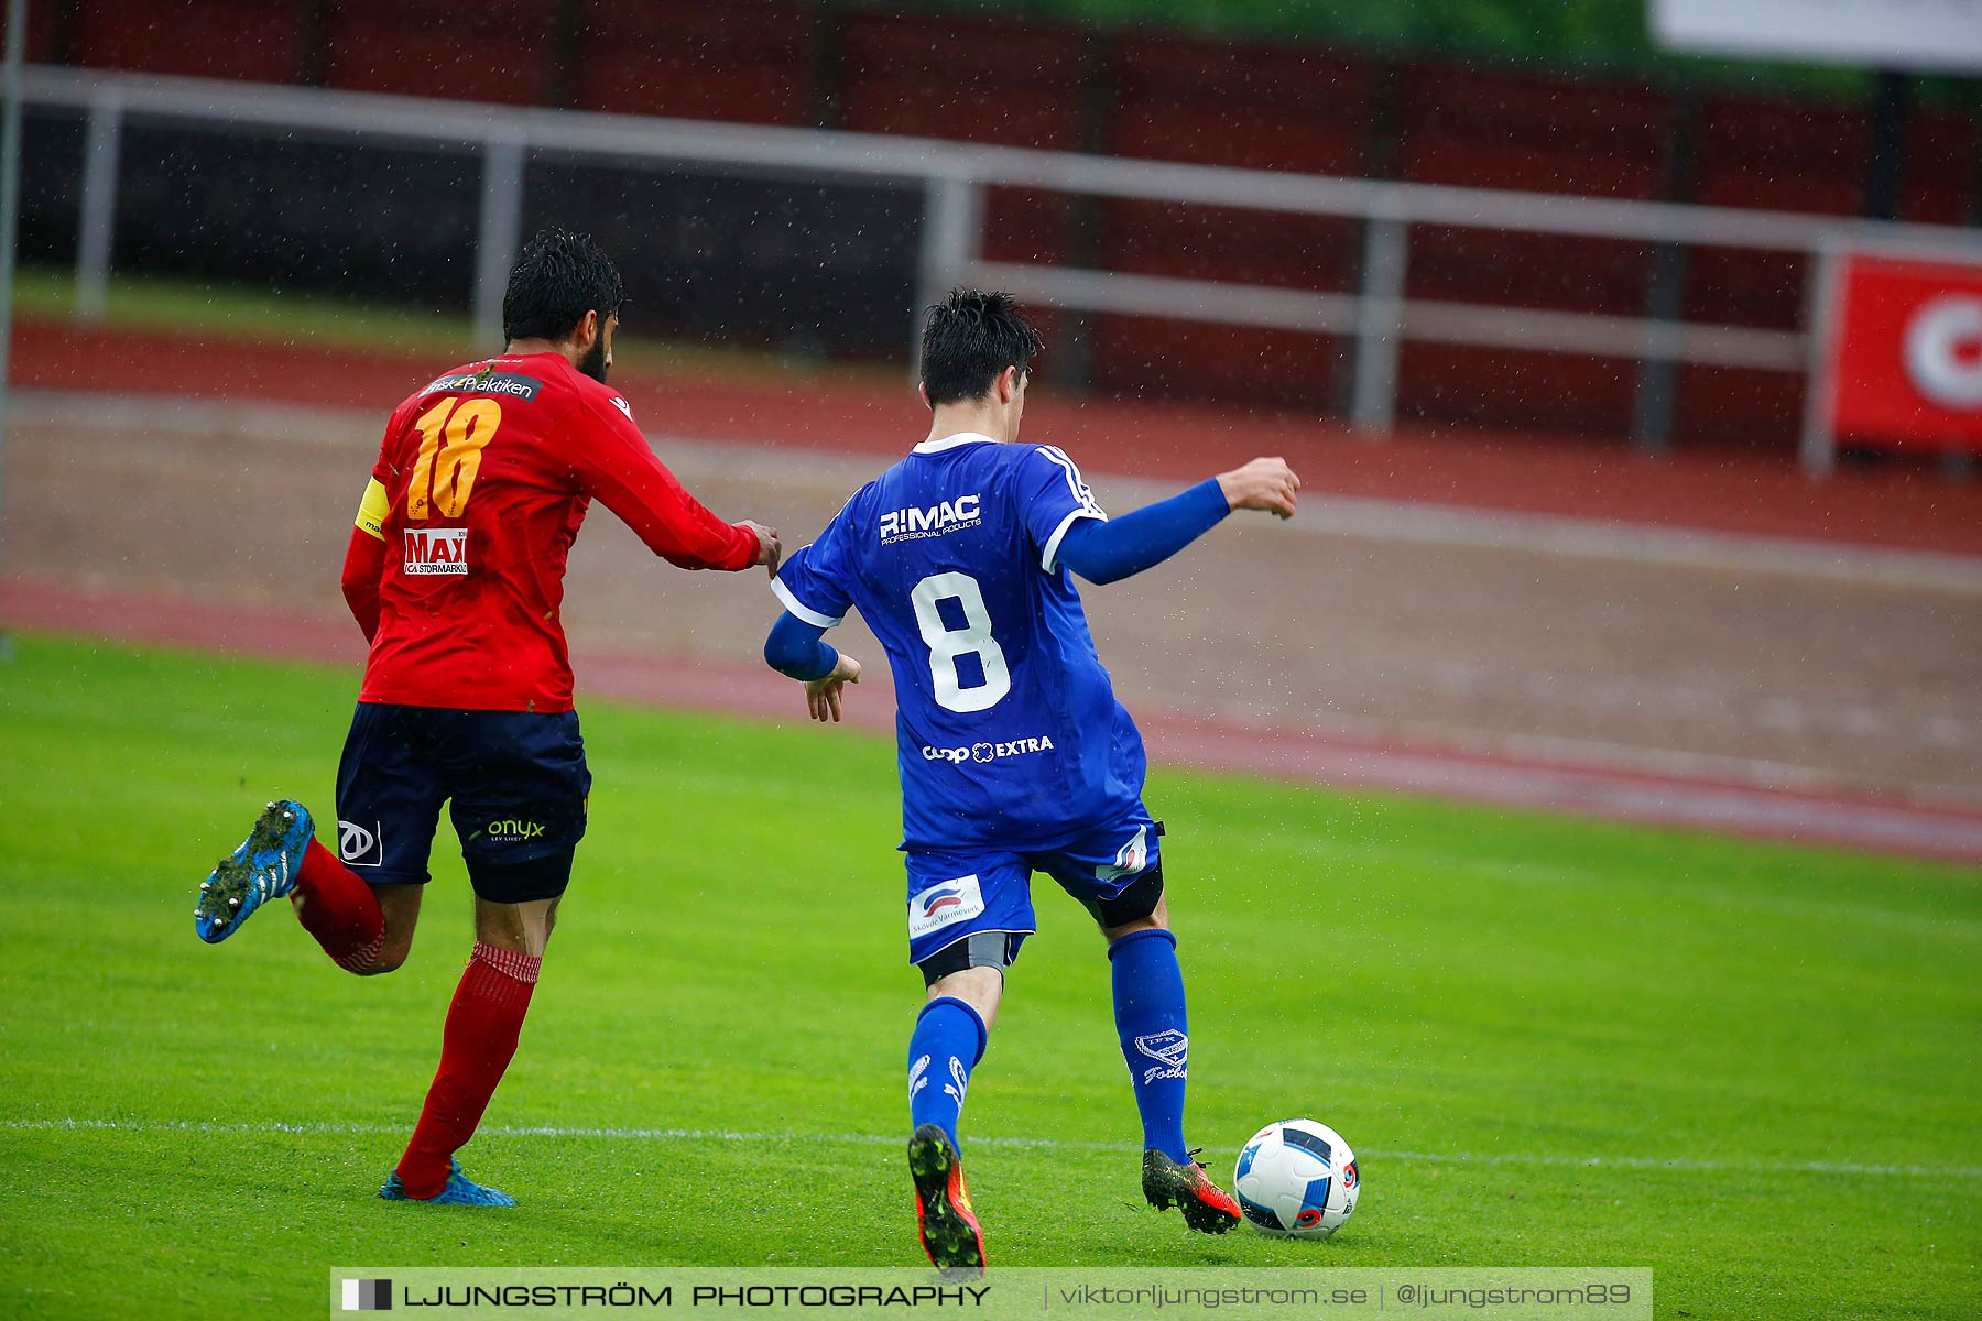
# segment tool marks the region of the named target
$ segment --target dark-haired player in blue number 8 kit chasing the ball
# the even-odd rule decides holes
[[[1110,523],[1072,459],[1019,444],[1039,349],[1005,293],[959,289],[930,309],[930,438],[787,560],[775,580],[785,614],[765,644],[821,721],[840,719],[842,689],[860,679],[860,663],[823,642],[850,608],[894,669],[908,957],[928,986],[908,1042],[908,1167],[939,1268],[985,1262],[957,1117],[1005,968],[1037,929],[1035,871],[1084,903],[1108,941],[1144,1196],[1181,1208],[1193,1230],[1239,1222],[1183,1143],[1189,1036],[1163,826],[1142,804],[1142,737],[1094,654],[1072,574],[1142,572],[1233,509],[1292,517],[1300,481],[1280,459],[1253,459]]]

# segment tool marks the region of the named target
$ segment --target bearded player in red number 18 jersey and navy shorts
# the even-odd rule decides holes
[[[605,384],[620,295],[591,238],[537,234],[509,273],[503,355],[392,410],[345,557],[371,660],[337,768],[337,854],[303,804],[279,800],[200,887],[204,941],[287,895],[339,966],[390,972],[412,947],[452,800],[476,945],[386,1200],[513,1204],[468,1180],[454,1153],[515,1054],[585,834],[591,772],[559,604],[591,501],[682,568],[777,572],[777,533],[704,509]]]

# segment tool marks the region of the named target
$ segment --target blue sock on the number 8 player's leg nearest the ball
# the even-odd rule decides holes
[[[1108,947],[1114,968],[1116,1034],[1136,1085],[1144,1149],[1189,1161],[1183,1145],[1183,1083],[1191,1073],[1191,1038],[1183,1016],[1183,968],[1177,937],[1161,929],[1130,931]]]

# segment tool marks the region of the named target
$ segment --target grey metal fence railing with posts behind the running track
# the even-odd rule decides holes
[[[924,194],[916,248],[918,305],[957,281],[995,283],[1033,303],[1074,313],[1126,313],[1348,337],[1354,343],[1350,414],[1360,428],[1374,432],[1385,430],[1395,416],[1397,355],[1403,341],[1637,360],[1643,366],[1635,426],[1637,438],[1649,444],[1661,442],[1661,418],[1669,420],[1673,364],[1800,372],[1806,370],[1810,353],[1812,337],[1806,331],[1413,299],[1405,295],[1411,226],[1792,252],[1812,257],[1806,265],[1812,281],[1821,265],[1817,257],[1845,246],[1982,255],[1982,234],[1940,226],[1328,178],[894,135],[513,109],[65,67],[30,67],[24,87],[30,107],[79,111],[87,121],[77,208],[77,311],[83,317],[103,309],[115,238],[121,133],[129,117],[143,115],[147,121],[226,127],[236,133],[268,131],[285,141],[335,135],[478,154],[482,188],[474,311],[486,339],[499,333],[503,279],[521,236],[523,180],[533,154],[664,164],[712,176],[880,182],[920,188]],[[1362,285],[1354,293],[1316,293],[1066,265],[993,263],[983,255],[983,212],[985,190],[997,186],[1356,220],[1362,222]]]

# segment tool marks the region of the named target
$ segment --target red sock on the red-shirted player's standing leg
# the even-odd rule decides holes
[[[440,1069],[426,1089],[420,1123],[412,1129],[398,1178],[406,1196],[428,1198],[448,1186],[448,1163],[482,1123],[496,1083],[509,1067],[515,1038],[523,1032],[529,992],[537,988],[537,955],[515,955],[476,943],[462,984],[448,1006],[440,1036]]]

